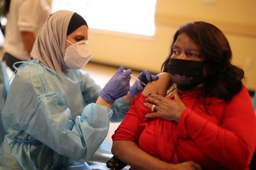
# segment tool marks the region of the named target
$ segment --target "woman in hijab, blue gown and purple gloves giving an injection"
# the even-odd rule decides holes
[[[49,15],[31,60],[16,71],[2,111],[3,168],[66,169],[89,160],[106,137],[109,120],[122,120],[131,96],[143,90],[138,82],[130,87],[132,70],[122,66],[101,90],[80,70],[91,58],[87,39],[87,22],[77,13]],[[157,79],[148,71],[138,78]]]

